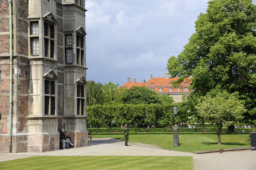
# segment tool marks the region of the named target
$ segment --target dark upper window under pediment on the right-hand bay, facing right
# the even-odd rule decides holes
[[[84,65],[84,36],[77,33],[77,65]]]

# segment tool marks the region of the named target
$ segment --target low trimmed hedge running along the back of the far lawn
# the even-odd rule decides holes
[[[88,128],[87,129],[88,131],[90,131],[92,134],[95,134],[95,133],[106,133],[106,134],[123,134],[123,131],[124,129],[123,128]],[[151,133],[170,133],[170,131],[173,130],[172,127],[164,127],[164,128],[130,128],[129,130],[129,134],[132,134],[132,133],[139,133],[139,134],[143,134],[141,131],[143,130],[147,130],[148,132],[145,132],[145,134],[151,134]],[[210,127],[207,127],[207,128],[200,128],[200,127],[195,127],[195,128],[179,128],[179,134],[181,133],[202,133],[201,131],[202,130],[208,130],[209,133],[215,133],[215,129],[214,128],[210,128]],[[252,132],[253,130],[256,132],[256,128],[237,128],[235,130],[241,130],[241,131],[244,131],[245,133],[250,133]],[[114,133],[112,131],[119,131],[119,133]],[[221,133],[227,133],[228,129],[227,128],[222,128],[221,129]]]

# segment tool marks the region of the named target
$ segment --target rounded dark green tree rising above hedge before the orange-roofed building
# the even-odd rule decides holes
[[[160,97],[156,91],[144,86],[133,86],[130,89],[123,89],[120,102],[123,104],[161,104]]]

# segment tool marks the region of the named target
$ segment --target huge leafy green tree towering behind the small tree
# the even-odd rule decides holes
[[[177,83],[193,76],[191,113],[200,96],[217,86],[239,93],[248,112],[256,118],[256,6],[251,0],[212,0],[195,22],[195,33],[177,56],[170,57],[167,69]]]

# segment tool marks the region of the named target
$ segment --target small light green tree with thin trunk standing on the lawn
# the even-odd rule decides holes
[[[238,93],[229,94],[224,91],[213,97],[211,95],[204,96],[203,101],[197,104],[196,109],[198,115],[214,127],[218,144],[221,144],[220,132],[222,126],[234,125],[243,119],[242,115],[247,109],[244,107],[244,102],[238,99]]]

